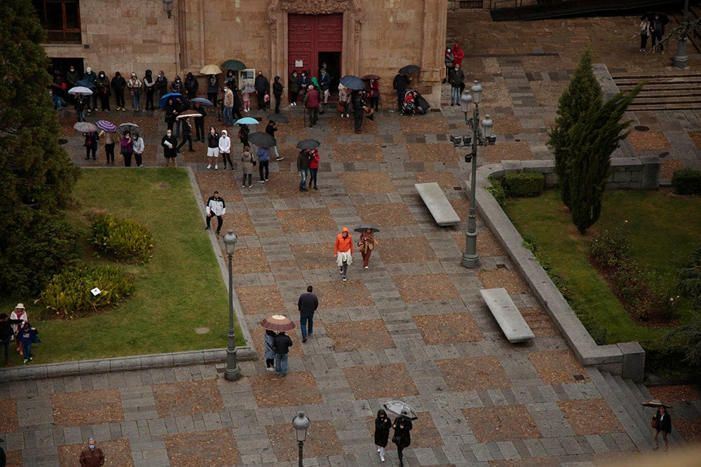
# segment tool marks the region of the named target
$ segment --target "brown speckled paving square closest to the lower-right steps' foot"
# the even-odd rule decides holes
[[[557,405],[578,436],[625,433],[604,399],[559,400]]]

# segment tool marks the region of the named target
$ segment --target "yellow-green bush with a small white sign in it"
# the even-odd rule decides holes
[[[93,288],[100,288],[95,296]],[[65,267],[41,293],[41,302],[51,312],[73,319],[88,316],[134,291],[134,285],[116,267],[81,264]]]

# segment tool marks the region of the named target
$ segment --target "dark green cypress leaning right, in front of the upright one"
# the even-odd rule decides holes
[[[629,132],[630,121],[622,121],[625,109],[644,83],[629,92],[619,92],[608,101],[597,99],[569,132],[567,171],[570,183],[572,222],[584,235],[601,214],[604,189],[610,175],[611,153]]]

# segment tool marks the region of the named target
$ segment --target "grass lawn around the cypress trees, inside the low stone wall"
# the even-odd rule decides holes
[[[701,197],[667,191],[607,191],[599,222],[581,236],[564,209],[557,190],[537,198],[508,201],[507,212],[522,233],[536,238],[552,265],[569,281],[571,292],[583,300],[597,322],[608,330],[610,343],[658,339],[669,328],[640,326],[623,309],[608,284],[587,260],[592,234],[618,228],[629,239],[632,255],[665,286],[676,283],[674,268],[685,264],[701,242]],[[679,307],[679,322],[690,319],[688,303]]]

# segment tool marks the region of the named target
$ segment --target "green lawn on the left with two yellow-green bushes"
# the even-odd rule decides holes
[[[146,265],[121,265],[131,274],[135,293],[95,316],[37,321],[48,318],[41,303],[16,297],[0,303],[9,314],[16,302],[25,302],[41,337],[34,346],[35,363],[226,347],[229,296],[184,169],[83,170],[74,197],[79,205],[69,218],[86,232],[84,214],[96,210],[147,225],[155,239],[154,257]],[[89,248],[84,239],[83,244]],[[92,251],[84,259],[117,265]],[[236,344],[243,345],[236,326]],[[200,327],[210,332],[197,334]],[[12,362],[21,363],[11,353]]]

